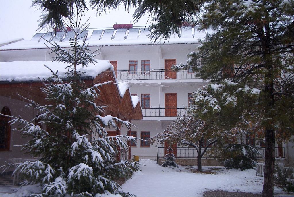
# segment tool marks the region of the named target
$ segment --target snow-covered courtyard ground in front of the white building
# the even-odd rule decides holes
[[[221,166],[202,166],[203,172],[196,171],[197,166],[180,166],[180,168],[168,168],[158,166],[156,161],[141,159],[142,171],[134,173],[132,179],[126,181],[121,187],[124,192],[130,192],[137,197],[201,197],[203,192],[209,190],[224,190],[231,192],[261,193],[263,177],[255,176],[255,170],[245,171],[230,169]],[[28,186],[17,193],[5,192],[0,187],[0,197],[22,197],[29,190],[36,191],[39,188]],[[8,192],[8,190],[7,190]],[[275,196],[286,195],[282,189],[275,187]],[[114,197],[120,195],[103,195]]]

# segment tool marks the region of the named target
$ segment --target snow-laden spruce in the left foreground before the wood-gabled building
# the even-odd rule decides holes
[[[26,180],[25,184],[40,184],[41,193],[32,195],[36,197],[93,197],[109,192],[132,196],[120,192],[120,186],[114,180],[128,178],[133,171],[139,170],[137,163],[116,161],[119,147],[127,148],[124,140],[136,142],[129,136],[108,136],[105,129],[118,129],[117,124],[130,128],[131,123],[110,115],[99,115],[104,111],[103,106],[96,104],[99,87],[111,81],[90,87],[83,82],[86,73],[78,68],[95,63],[95,54],[90,54],[88,45],[78,40],[88,26],[71,25],[76,34],[70,41],[71,48],[67,51],[56,43],[51,43],[50,48],[51,53],[56,54],[54,61],[67,64],[67,78],[61,79],[58,71],[48,68],[52,76],[42,80],[41,90],[49,104],[40,105],[26,99],[29,102],[26,107],[39,111],[35,118],[40,120],[39,125],[31,123],[35,119],[29,122],[11,116],[11,124],[19,124],[18,130],[29,139],[22,145],[22,150],[40,159],[10,163],[4,168],[16,167],[14,174],[18,173]],[[47,129],[40,125],[46,125]]]

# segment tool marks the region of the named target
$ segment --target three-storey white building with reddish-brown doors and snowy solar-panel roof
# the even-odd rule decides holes
[[[171,36],[168,41],[156,43],[150,41],[147,36],[149,33],[144,27],[117,24],[113,28],[89,29],[81,35],[81,40],[86,39],[91,51],[103,46],[98,51],[100,54],[97,59],[109,60],[116,70],[117,79],[127,81],[132,96],[139,97],[143,120],[133,120],[132,123],[138,128],[132,128],[131,133],[122,128],[121,133],[142,139],[163,131],[176,119],[178,113],[186,113],[189,95],[206,84],[201,79],[195,79],[193,72],[170,71],[171,65],[186,63],[187,54],[197,49],[198,39],[203,39],[206,32],[198,32],[194,27],[188,26],[181,29],[179,36]],[[37,33],[30,41],[5,44],[0,46],[0,62],[51,61],[53,55],[45,46],[44,39],[55,41],[66,48],[73,35],[71,31],[57,32],[56,35]],[[287,143],[288,148],[283,147],[280,153],[277,149],[276,157],[286,155],[291,160],[289,146],[291,145]],[[162,155],[163,150],[159,151]],[[187,154],[183,151],[186,150],[178,150],[178,155]],[[190,156],[192,152],[189,152]],[[158,147],[143,141],[137,141],[137,146],[131,147],[131,155],[140,158],[156,158],[157,154]]]

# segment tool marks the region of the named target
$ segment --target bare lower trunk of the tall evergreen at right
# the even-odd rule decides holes
[[[275,131],[265,130],[265,171],[263,182],[263,197],[273,197],[275,170]]]

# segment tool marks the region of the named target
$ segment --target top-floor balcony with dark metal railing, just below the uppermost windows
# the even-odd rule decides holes
[[[150,70],[150,71],[128,71],[119,70],[116,71],[118,80],[146,80],[146,79],[197,79],[194,77],[194,73],[188,71],[171,71],[171,70]]]

